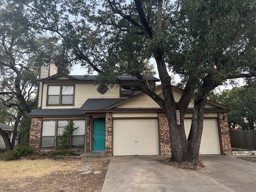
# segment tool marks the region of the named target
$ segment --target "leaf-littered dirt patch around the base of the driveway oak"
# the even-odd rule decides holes
[[[172,162],[171,158],[165,158],[165,159],[162,159],[160,161],[163,164],[171,165],[171,166],[174,166],[174,167],[177,167],[177,168],[187,168],[187,169],[192,169],[192,170],[198,170],[200,168],[205,167],[201,160],[199,160],[195,163],[189,162],[189,161],[185,161],[185,162],[182,162],[182,163],[177,163],[177,162]]]

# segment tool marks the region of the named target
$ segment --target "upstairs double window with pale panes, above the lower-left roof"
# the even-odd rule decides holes
[[[49,85],[47,105],[74,105],[74,85]]]

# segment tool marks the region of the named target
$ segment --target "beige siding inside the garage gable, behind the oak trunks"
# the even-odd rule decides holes
[[[162,92],[161,89],[157,90],[156,93],[160,94]],[[173,91],[173,96],[176,102],[178,102],[182,96],[182,93]],[[193,101],[190,102],[189,108],[193,108]],[[159,105],[149,96],[143,95],[140,96],[128,103],[117,106],[117,108],[160,108]],[[206,104],[206,108],[213,108],[213,106]]]

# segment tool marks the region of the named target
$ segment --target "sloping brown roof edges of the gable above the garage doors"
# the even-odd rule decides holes
[[[156,86],[156,91],[159,90],[159,89],[161,89],[161,88],[162,88],[161,84],[158,85],[158,86]],[[181,89],[181,88],[179,88],[179,87],[176,87],[176,86],[171,85],[171,88],[172,88],[172,90],[174,90],[174,91],[183,93],[183,89]],[[120,102],[118,102],[118,103],[115,103],[115,104],[113,104],[113,105],[111,105],[111,106],[108,106],[108,107],[106,107],[106,108],[103,108],[103,109],[104,109],[104,110],[108,110],[108,109],[110,109],[110,108],[115,108],[115,107],[120,106],[120,105],[122,105],[122,104],[131,102],[131,101],[135,100],[136,98],[138,98],[138,97],[140,97],[140,96],[144,96],[144,95],[146,95],[146,93],[143,93],[143,92],[142,92],[142,93],[140,93],[140,94],[137,94],[137,95],[135,95],[135,96],[129,97],[129,98],[127,98],[127,99],[124,99],[123,101],[120,101]],[[211,101],[211,100],[209,100],[209,99],[206,100],[206,103],[209,104],[209,105],[213,105],[213,106],[215,106],[215,107],[221,108],[221,109],[225,109],[225,110],[227,110],[227,111],[230,111],[230,110],[231,110],[231,108],[226,107],[226,106],[224,106],[224,105],[221,105],[221,104],[219,104],[219,103],[216,103],[216,102],[214,102],[214,101]]]

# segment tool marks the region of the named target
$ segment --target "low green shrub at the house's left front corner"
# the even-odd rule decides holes
[[[28,145],[16,145],[12,151],[7,151],[5,153],[6,160],[16,160],[21,156],[33,155],[33,151],[29,148]]]

